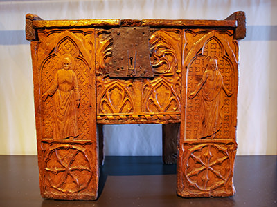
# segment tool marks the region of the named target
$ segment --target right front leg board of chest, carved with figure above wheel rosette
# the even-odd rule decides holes
[[[238,43],[231,30],[184,30],[186,97],[178,194],[230,196],[237,144]]]

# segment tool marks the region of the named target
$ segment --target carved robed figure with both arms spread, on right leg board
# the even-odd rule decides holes
[[[200,95],[200,130],[197,139],[215,137],[222,126],[222,89],[228,97],[232,95],[223,82],[223,77],[217,68],[217,60],[210,59],[202,80],[197,84],[188,98],[193,99],[201,90]]]

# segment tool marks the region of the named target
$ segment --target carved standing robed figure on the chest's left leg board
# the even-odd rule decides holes
[[[53,139],[73,139],[78,134],[77,113],[80,105],[80,93],[75,72],[71,70],[71,56],[64,55],[62,68],[57,71],[51,86],[42,95],[46,101],[54,95],[54,130]]]

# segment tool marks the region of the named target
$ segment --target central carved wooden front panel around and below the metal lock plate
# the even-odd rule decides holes
[[[97,121],[100,124],[180,122],[181,30],[152,30],[154,79],[111,79],[109,30],[96,30]]]

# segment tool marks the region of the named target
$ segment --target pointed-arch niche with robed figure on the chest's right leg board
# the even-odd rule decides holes
[[[217,60],[218,75],[211,74],[204,80],[204,76],[209,70],[208,61],[210,59]],[[238,77],[237,60],[233,50],[226,39],[220,37],[220,34],[208,32],[195,43],[195,46],[188,53],[186,61],[190,61],[186,73],[186,95],[191,95],[195,92],[197,84],[205,81],[199,88],[197,95],[186,101],[187,139],[211,137],[213,139],[229,139],[233,135],[231,125],[235,124],[233,121],[234,116],[236,117],[233,113],[235,109],[232,106],[236,101],[237,87],[234,86],[233,81],[235,77]],[[218,83],[209,81],[210,79],[214,79]],[[231,92],[230,95],[226,94],[224,87]],[[213,88],[219,89],[213,92]],[[214,125],[207,126],[211,123]],[[211,132],[208,133],[207,131]]]

